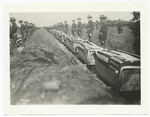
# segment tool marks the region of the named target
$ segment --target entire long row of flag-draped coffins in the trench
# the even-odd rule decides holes
[[[140,57],[122,52],[108,50],[87,41],[73,37],[57,30],[49,31],[61,43],[77,53],[87,65],[94,65],[98,75],[119,91],[140,90]]]

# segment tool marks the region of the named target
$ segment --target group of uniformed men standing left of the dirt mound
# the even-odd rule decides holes
[[[25,46],[26,40],[30,39],[35,29],[34,23],[19,20],[19,26],[17,26],[16,19],[14,17],[10,18],[10,55],[13,56],[16,53],[17,40],[20,40],[19,44],[21,46]]]

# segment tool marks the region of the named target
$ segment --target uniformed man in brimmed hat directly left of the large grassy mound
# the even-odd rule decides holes
[[[107,39],[107,25],[105,23],[105,19],[107,17],[105,15],[100,15],[101,27],[99,30],[99,40],[102,47],[105,47],[106,39]]]

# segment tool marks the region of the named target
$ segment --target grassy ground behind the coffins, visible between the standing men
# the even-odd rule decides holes
[[[83,31],[82,36],[88,39],[86,29],[83,28],[82,31]],[[71,34],[70,30],[69,33]],[[99,32],[95,28],[93,32],[92,42],[100,46],[98,35]],[[122,34],[118,34],[117,27],[109,27],[107,31],[107,43],[106,43],[106,47],[108,49],[119,49],[126,52],[134,53],[134,51],[132,50],[133,42],[134,42],[134,35],[130,32],[128,27],[123,27]]]

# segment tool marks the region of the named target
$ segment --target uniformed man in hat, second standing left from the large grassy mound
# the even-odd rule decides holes
[[[93,36],[93,30],[94,30],[94,23],[92,21],[92,16],[88,15],[87,16],[88,19],[88,23],[87,23],[87,34],[88,34],[88,38],[89,41],[92,41],[92,36]]]

